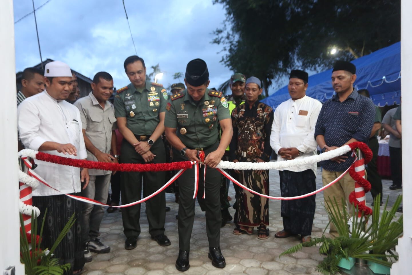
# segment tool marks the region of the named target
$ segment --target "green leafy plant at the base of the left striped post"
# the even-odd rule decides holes
[[[43,235],[46,214],[47,209],[43,216],[40,236]],[[42,239],[37,236],[37,217],[34,216],[35,213],[32,212],[31,234],[29,234],[26,233],[23,216],[20,214],[20,260],[24,263],[25,273],[26,275],[63,275],[65,271],[70,270],[70,263],[59,264],[59,259],[53,258],[53,252],[75,223],[75,214],[70,217],[49,251],[40,248]]]

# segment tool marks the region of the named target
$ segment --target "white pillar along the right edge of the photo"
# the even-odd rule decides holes
[[[402,176],[403,176],[403,237],[399,238],[396,251],[399,254],[399,261],[392,265],[392,275],[412,274],[412,124],[409,119],[412,117],[412,94],[410,93],[410,76],[412,75],[412,1],[402,0],[400,5],[401,14],[401,90],[402,90]]]

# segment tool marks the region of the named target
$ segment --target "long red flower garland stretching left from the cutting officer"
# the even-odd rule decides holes
[[[37,160],[43,160],[60,165],[68,165],[73,167],[84,167],[89,169],[121,171],[121,172],[159,172],[171,171],[180,169],[192,168],[190,161],[171,162],[171,163],[147,163],[147,164],[133,164],[133,163],[112,163],[112,162],[98,162],[91,160],[77,160],[68,157],[61,157],[57,155],[50,155],[43,152],[36,154]]]

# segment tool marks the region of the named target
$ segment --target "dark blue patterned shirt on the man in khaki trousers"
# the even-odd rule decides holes
[[[375,112],[373,101],[358,94],[356,89],[343,102],[335,94],[322,106],[316,122],[315,139],[318,135],[325,136],[327,146],[342,146],[352,138],[368,143]],[[321,166],[328,171],[344,171],[353,163],[351,152],[346,155],[346,162],[338,164],[325,160]]]

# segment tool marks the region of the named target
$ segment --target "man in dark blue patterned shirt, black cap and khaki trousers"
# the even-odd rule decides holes
[[[334,150],[354,141],[368,143],[375,119],[375,105],[372,100],[358,94],[353,83],[356,80],[356,66],[347,61],[337,61],[332,71],[332,86],[336,94],[326,101],[318,116],[315,139],[323,152]],[[340,176],[354,158],[351,152],[321,162],[322,180],[325,186]],[[325,202],[337,200],[340,211],[349,206],[349,194],[355,189],[355,181],[347,173],[340,181],[323,192]],[[342,198],[344,201],[342,202]],[[346,203],[345,203],[346,202]],[[350,210],[349,213],[352,211]],[[336,228],[330,224],[330,234],[337,236]]]

